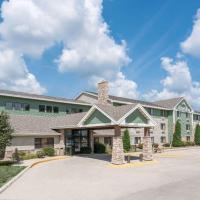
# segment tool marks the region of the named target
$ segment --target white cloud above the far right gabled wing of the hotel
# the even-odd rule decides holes
[[[185,97],[195,108],[200,108],[200,82],[192,80],[189,66],[185,61],[161,58],[161,65],[167,77],[161,81],[161,91],[151,90],[143,97],[148,100],[161,100],[178,96]]]

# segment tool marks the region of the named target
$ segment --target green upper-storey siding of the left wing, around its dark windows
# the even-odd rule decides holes
[[[30,111],[16,111],[16,110],[6,110],[5,103],[13,102],[13,103],[27,103],[30,104]],[[57,106],[59,107],[59,113],[46,113],[39,112],[39,105],[46,106]],[[6,111],[9,114],[28,114],[28,115],[65,115],[66,110],[69,110],[69,113],[73,112],[73,109],[79,111],[88,111],[90,106],[85,105],[77,105],[77,104],[68,104],[68,103],[58,103],[58,102],[49,102],[49,101],[41,101],[41,100],[33,100],[33,99],[24,99],[24,98],[16,98],[16,97],[5,97],[0,96],[0,111]]]

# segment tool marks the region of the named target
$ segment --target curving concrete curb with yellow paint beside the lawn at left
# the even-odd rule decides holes
[[[27,166],[24,170],[22,170],[19,174],[17,174],[16,176],[14,176],[10,181],[8,181],[5,185],[3,185],[0,188],[0,194],[5,191],[9,186],[11,186],[17,179],[19,179],[26,171],[28,171],[30,168],[40,164],[40,163],[45,163],[45,162],[49,162],[49,161],[54,161],[54,160],[64,160],[67,159],[68,157],[55,157],[55,158],[49,158],[46,160],[40,160],[40,161],[36,161],[32,164],[30,164],[29,166]]]

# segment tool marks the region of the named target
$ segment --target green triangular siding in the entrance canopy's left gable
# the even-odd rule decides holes
[[[103,115],[100,111],[95,110],[91,116],[84,122],[84,125],[89,124],[107,124],[111,123],[111,120]]]

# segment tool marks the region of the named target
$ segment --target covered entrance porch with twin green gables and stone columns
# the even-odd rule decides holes
[[[63,127],[65,147],[71,147],[73,153],[80,153],[81,148],[90,147],[94,152],[95,131],[112,132],[113,164],[124,163],[122,134],[126,128],[144,128],[143,159],[152,160],[150,129],[155,126],[151,116],[140,104],[114,107],[94,105],[76,125]],[[110,134],[108,134],[110,136]]]

